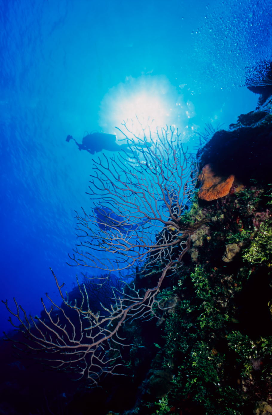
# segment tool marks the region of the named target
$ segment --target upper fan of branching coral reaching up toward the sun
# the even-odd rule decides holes
[[[70,265],[121,271],[165,263],[186,247],[180,217],[194,194],[197,164],[173,127],[155,134],[142,127],[136,137],[123,126],[134,157],[103,155],[95,162],[89,186],[94,208],[77,213],[81,241]]]

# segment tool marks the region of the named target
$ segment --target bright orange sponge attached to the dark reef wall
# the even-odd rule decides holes
[[[198,192],[198,197],[204,200],[216,200],[226,196],[231,190],[233,185],[234,175],[231,174],[227,178],[216,176],[211,169],[210,164],[206,164],[202,168],[202,172],[198,176],[199,181],[202,183]]]

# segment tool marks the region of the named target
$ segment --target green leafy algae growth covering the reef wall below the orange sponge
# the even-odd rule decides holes
[[[163,398],[168,408],[157,401],[153,414],[271,410],[272,195],[265,181],[199,200],[186,215],[210,220],[192,236],[191,258],[172,279],[168,298],[178,300],[165,312],[160,343],[172,388]]]

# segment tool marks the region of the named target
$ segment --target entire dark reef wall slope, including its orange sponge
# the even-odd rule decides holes
[[[272,413],[272,91],[256,85],[257,109],[198,151],[199,190],[181,220],[202,225],[159,294],[167,311],[141,327],[130,367],[143,380],[124,414]]]

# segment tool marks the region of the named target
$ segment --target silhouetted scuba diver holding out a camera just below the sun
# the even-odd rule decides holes
[[[75,144],[78,146],[79,150],[86,150],[90,154],[95,154],[98,151],[108,150],[108,151],[133,151],[129,148],[128,144],[117,144],[115,134],[106,134],[101,132],[92,132],[87,134],[82,139],[82,144],[79,144],[71,135],[66,137],[66,141],[74,140]]]

